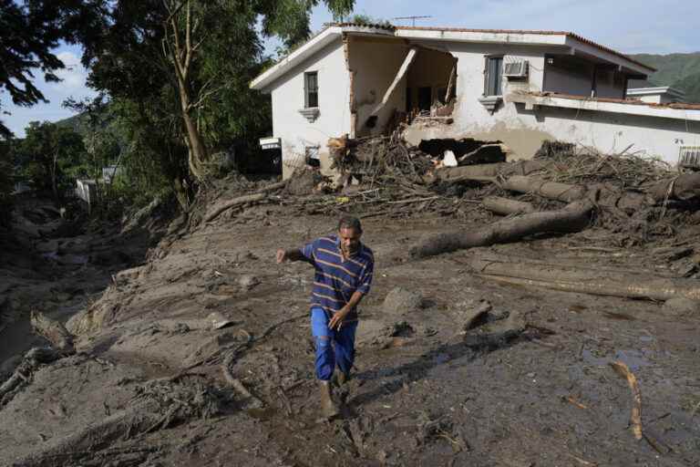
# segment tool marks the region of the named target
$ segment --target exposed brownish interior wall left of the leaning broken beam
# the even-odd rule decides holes
[[[406,109],[406,77],[401,79],[391,99],[379,112],[375,127],[370,129],[365,123],[396,78],[409,47],[396,39],[362,36],[349,37],[348,47],[350,69],[355,72],[356,136],[381,133],[395,109]],[[418,51],[416,59],[420,55]]]

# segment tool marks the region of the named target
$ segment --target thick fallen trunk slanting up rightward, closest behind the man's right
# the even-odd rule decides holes
[[[574,202],[560,211],[524,214],[476,231],[429,235],[411,247],[409,254],[413,258],[425,258],[474,246],[514,242],[535,233],[580,232],[591,223],[591,213],[592,203]]]

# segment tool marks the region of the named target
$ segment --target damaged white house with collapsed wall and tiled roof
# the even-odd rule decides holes
[[[628,96],[654,68],[569,32],[333,24],[251,83],[270,93],[283,177],[330,173],[328,140],[389,132],[409,143],[502,141],[527,159],[544,140],[676,164],[700,145],[700,104]]]

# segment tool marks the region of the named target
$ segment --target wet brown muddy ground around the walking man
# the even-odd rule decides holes
[[[18,328],[28,327],[30,306],[67,321],[79,352],[42,366],[0,409],[0,464],[700,465],[700,316],[488,282],[465,266],[486,249],[406,261],[407,245],[424,233],[474,228],[438,214],[364,221],[376,271],[361,307],[355,379],[339,394],[345,418],[319,422],[313,273],[276,265],[274,251],[332,232],[335,222],[263,205],[189,233],[175,221],[148,252],[119,235],[83,239],[94,250],[104,242],[114,243],[110,252],[130,249],[120,264],[96,265],[88,254],[58,265],[34,254],[32,264],[4,265],[15,323],[0,335],[1,357],[38,343]],[[611,247],[606,233],[589,230],[487,251],[674,275],[649,248]],[[419,293],[421,306],[384,306],[397,286]],[[491,307],[486,322],[465,330],[482,306]],[[231,325],[213,329],[213,312]],[[515,317],[521,325],[504,327]],[[639,380],[656,449],[634,439],[633,398],[614,360]],[[251,398],[232,389],[222,363]],[[175,388],[152,412],[165,416],[144,424],[151,412],[139,404],[161,383]],[[215,409],[184,410],[206,404]]]

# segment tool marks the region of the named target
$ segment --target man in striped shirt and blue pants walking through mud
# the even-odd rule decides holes
[[[359,219],[343,217],[337,234],[317,238],[301,250],[277,250],[277,263],[305,261],[315,269],[311,329],[321,410],[327,419],[339,413],[331,394],[335,365],[340,370],[338,384],[345,384],[355,359],[356,308],[372,285],[375,259],[372,250],[360,243],[361,236]]]

